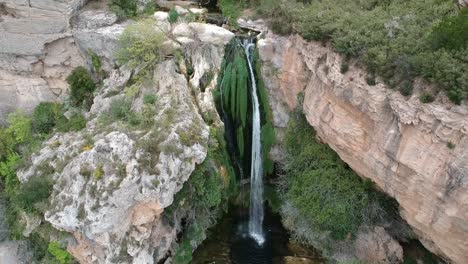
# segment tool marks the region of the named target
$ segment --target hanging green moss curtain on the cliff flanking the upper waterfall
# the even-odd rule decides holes
[[[247,66],[242,38],[236,38],[226,47],[222,64],[222,72],[218,78],[218,89],[214,93],[218,111],[223,122],[230,129],[227,138],[234,144],[233,157],[241,161],[242,174],[248,175],[251,163],[252,141],[252,94],[251,80]],[[253,61],[255,82],[258,89],[261,120],[261,143],[263,153],[263,168],[265,175],[273,172],[273,162],[268,153],[275,141],[272,115],[268,103],[268,95],[260,75],[261,63],[258,51]]]

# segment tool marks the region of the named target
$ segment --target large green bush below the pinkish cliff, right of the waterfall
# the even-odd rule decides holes
[[[303,116],[294,115],[286,132],[287,202],[316,230],[345,239],[361,225],[370,198],[367,185],[326,145]]]

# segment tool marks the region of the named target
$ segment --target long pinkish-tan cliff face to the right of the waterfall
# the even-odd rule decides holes
[[[258,46],[278,131],[286,127],[303,92],[303,111],[320,139],[398,201],[401,215],[427,248],[465,263],[466,103],[451,105],[440,95],[422,104],[417,94],[405,98],[382,83],[369,86],[365,71],[351,65],[342,74],[341,56],[299,36],[268,33]]]

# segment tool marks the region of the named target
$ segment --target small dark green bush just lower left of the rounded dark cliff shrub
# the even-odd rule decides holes
[[[33,112],[31,126],[34,132],[49,134],[62,115],[62,106],[58,103],[42,102]]]

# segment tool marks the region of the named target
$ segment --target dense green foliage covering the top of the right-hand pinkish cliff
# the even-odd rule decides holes
[[[422,76],[459,104],[468,98],[468,9],[453,2],[249,1],[276,33],[330,42],[390,87]]]

